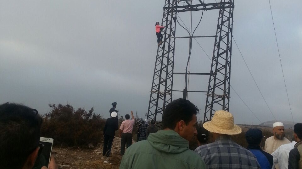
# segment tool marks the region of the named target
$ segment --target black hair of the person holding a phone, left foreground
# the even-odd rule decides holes
[[[0,105],[0,168],[22,168],[38,147],[42,118],[27,106]]]

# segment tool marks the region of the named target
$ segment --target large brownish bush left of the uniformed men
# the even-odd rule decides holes
[[[53,138],[54,145],[81,147],[103,140],[105,120],[93,113],[93,107],[87,112],[83,108],[75,110],[69,104],[49,106],[51,111],[42,116],[41,137]]]

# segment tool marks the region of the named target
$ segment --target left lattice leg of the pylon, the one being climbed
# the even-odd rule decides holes
[[[165,1],[165,7],[175,6],[177,6],[177,0]],[[163,29],[164,43],[157,49],[147,115],[148,119],[155,121],[158,120],[157,115],[162,115],[165,107],[172,100],[175,39],[168,37],[175,37],[176,9],[164,9],[162,24],[166,25]],[[157,123],[157,126],[161,127],[161,123]]]

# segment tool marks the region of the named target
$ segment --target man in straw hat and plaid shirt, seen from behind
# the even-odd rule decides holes
[[[204,160],[207,168],[261,168],[256,157],[247,149],[232,141],[230,135],[240,134],[242,129],[234,124],[231,113],[218,110],[203,127],[212,133],[214,143],[198,147],[197,152]]]

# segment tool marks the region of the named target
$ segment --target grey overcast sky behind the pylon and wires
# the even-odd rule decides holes
[[[95,108],[109,117],[112,102],[121,115],[148,110],[157,52],[155,22],[164,0],[0,0],[0,103],[15,102],[44,114],[48,104]],[[206,3],[212,1],[205,0]],[[300,0],[271,0],[293,118],[302,119],[302,11]],[[193,26],[201,11],[193,13]],[[189,25],[189,15],[179,14]],[[194,35],[215,35],[218,10],[205,11]],[[233,37],[277,120],[292,121],[268,0],[235,1]],[[176,36],[187,36],[176,25]],[[197,41],[212,57],[214,38]],[[174,72],[184,72],[188,40],[177,39]],[[193,40],[190,72],[210,73],[210,59]],[[208,76],[190,76],[189,90],[206,91]],[[274,120],[232,46],[231,85],[261,122]],[[175,75],[174,90],[184,89]],[[235,123],[259,124],[231,89]],[[173,93],[173,99],[182,93]],[[204,94],[188,95],[203,119]]]

